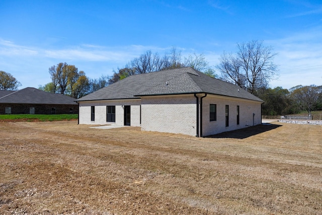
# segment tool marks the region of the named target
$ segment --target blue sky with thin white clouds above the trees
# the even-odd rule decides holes
[[[49,83],[59,62],[99,78],[147,50],[176,46],[215,66],[223,51],[251,40],[278,53],[270,87],[322,85],[320,1],[0,0],[0,70],[20,89]]]

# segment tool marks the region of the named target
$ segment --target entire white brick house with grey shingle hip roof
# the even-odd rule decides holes
[[[127,77],[76,100],[79,124],[205,136],[262,122],[263,100],[191,67]]]

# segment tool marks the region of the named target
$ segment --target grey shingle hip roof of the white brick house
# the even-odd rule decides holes
[[[236,85],[211,78],[191,67],[129,76],[79,98],[76,102],[194,93],[207,93],[263,102],[263,100]]]

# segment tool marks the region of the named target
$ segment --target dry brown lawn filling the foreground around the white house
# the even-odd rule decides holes
[[[0,214],[322,214],[321,132],[0,122]]]

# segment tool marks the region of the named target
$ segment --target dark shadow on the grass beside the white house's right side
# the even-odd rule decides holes
[[[205,138],[235,138],[235,139],[244,139],[256,134],[260,134],[269,130],[273,130],[282,125],[275,125],[270,123],[264,123],[260,125],[255,125],[247,128],[242,128],[233,131],[222,132],[214,135],[204,136]]]

